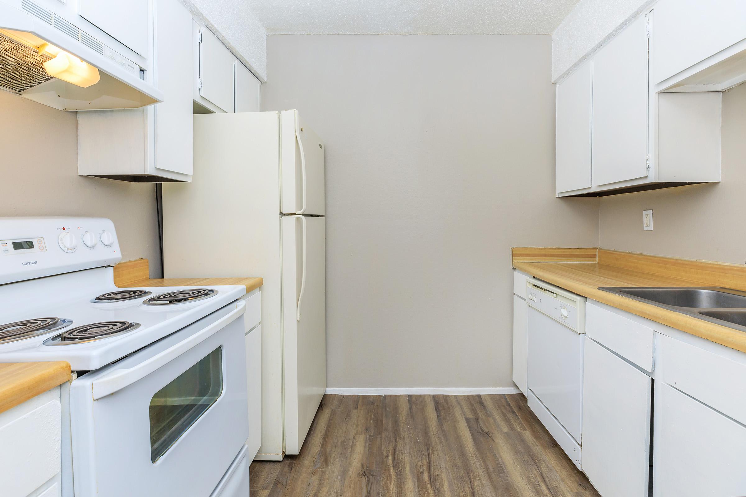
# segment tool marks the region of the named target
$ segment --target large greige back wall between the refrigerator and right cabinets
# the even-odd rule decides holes
[[[271,36],[263,110],[327,145],[329,387],[510,387],[510,247],[595,246],[554,197],[548,36]]]

